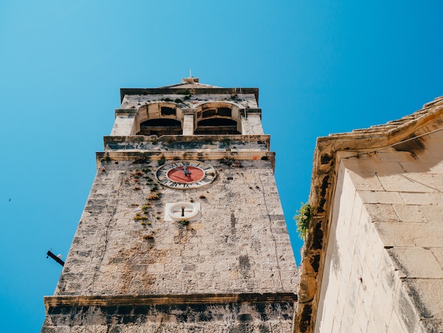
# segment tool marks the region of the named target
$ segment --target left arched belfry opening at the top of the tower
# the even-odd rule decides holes
[[[181,135],[182,113],[176,103],[151,103],[139,108],[137,135]]]

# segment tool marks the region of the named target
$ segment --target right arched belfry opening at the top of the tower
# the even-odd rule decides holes
[[[197,108],[196,135],[241,134],[238,107],[231,103],[205,103]]]

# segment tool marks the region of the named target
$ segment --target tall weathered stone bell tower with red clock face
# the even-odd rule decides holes
[[[42,332],[290,332],[299,277],[258,89],[121,89]]]

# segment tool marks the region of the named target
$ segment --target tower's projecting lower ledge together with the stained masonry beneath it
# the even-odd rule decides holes
[[[288,332],[294,315],[290,294],[77,298],[76,307],[58,300],[64,305],[47,300],[54,327],[43,332]]]

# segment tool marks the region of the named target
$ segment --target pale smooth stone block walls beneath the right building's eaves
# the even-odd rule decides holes
[[[442,331],[442,147],[341,159],[316,332]]]

